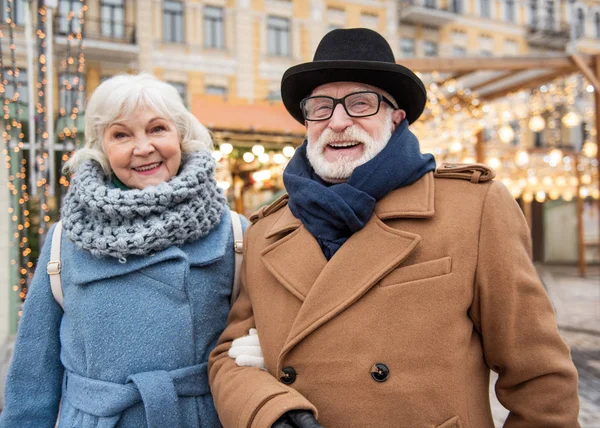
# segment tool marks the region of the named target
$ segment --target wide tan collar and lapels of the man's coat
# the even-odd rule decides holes
[[[295,345],[354,304],[415,251],[421,241],[419,235],[392,228],[382,220],[430,218],[435,213],[433,196],[432,173],[391,192],[377,203],[375,215],[365,227],[353,234],[329,261],[288,207],[272,214],[278,217],[267,229],[266,238],[291,233],[265,248],[262,262],[303,302],[279,356],[279,365]]]

